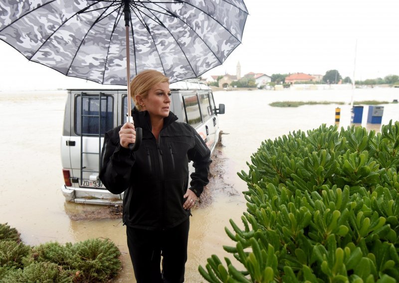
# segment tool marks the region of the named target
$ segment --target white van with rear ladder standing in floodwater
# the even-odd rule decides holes
[[[199,82],[181,81],[171,84],[170,89],[171,111],[178,121],[193,126],[213,151],[220,131],[217,114],[224,114],[224,104],[216,108],[212,91]],[[110,193],[98,175],[104,134],[124,124],[126,114],[126,89],[68,90],[61,138],[65,181],[61,190],[67,201],[122,204],[123,193]]]

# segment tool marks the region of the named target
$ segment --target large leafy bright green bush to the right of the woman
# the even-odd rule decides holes
[[[232,220],[208,282],[399,281],[399,122],[382,133],[337,126],[262,142],[251,156],[247,211]],[[240,270],[242,269],[242,270]]]

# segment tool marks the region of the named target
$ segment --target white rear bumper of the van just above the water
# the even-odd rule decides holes
[[[61,186],[65,200],[75,203],[115,205],[122,204],[123,193],[113,194],[104,189],[74,188]]]

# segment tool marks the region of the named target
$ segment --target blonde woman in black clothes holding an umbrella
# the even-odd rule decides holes
[[[134,125],[105,134],[100,179],[110,192],[125,192],[123,223],[137,282],[184,282],[190,209],[208,183],[210,151],[170,112],[169,79],[162,73],[138,74],[130,95]],[[143,140],[133,152],[135,127],[143,129]],[[189,160],[195,167],[190,188]]]

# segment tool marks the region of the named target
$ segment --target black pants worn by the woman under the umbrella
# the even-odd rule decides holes
[[[190,219],[165,231],[126,227],[137,283],[184,282],[189,229]]]

